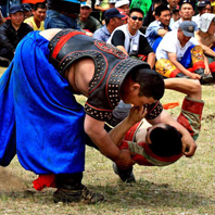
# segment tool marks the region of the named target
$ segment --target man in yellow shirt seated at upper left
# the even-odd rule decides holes
[[[26,18],[24,23],[27,23],[34,30],[45,30],[46,13],[46,4],[36,3],[33,9],[33,16]]]

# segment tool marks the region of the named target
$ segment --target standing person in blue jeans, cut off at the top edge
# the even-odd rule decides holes
[[[47,0],[48,10],[45,28],[74,28],[79,29],[77,17],[80,2],[86,0]]]

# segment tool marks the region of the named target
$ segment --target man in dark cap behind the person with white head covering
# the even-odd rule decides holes
[[[208,1],[208,0],[199,1],[198,2],[198,11],[199,11],[199,14],[197,14],[195,16],[192,16],[192,21],[197,23],[198,28],[199,28],[201,15],[204,13],[212,12],[211,1]]]

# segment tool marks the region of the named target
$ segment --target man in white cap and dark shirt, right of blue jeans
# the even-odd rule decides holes
[[[91,4],[80,4],[78,24],[80,25],[81,29],[87,29],[90,33],[94,33],[97,29],[101,27],[101,24],[97,18],[90,15],[91,11]]]

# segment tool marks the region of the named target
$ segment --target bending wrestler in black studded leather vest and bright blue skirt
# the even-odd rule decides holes
[[[121,99],[135,106],[150,104],[146,117],[176,126],[184,151],[189,149],[186,155],[194,154],[189,132],[163,111],[163,93],[161,75],[111,45],[73,29],[33,31],[0,79],[0,164],[9,165],[17,153],[25,169],[53,176],[54,202],[102,201],[102,194],[81,184],[85,132],[117,166],[132,166],[129,152],[104,130]],[[74,94],[88,98],[85,108]]]

